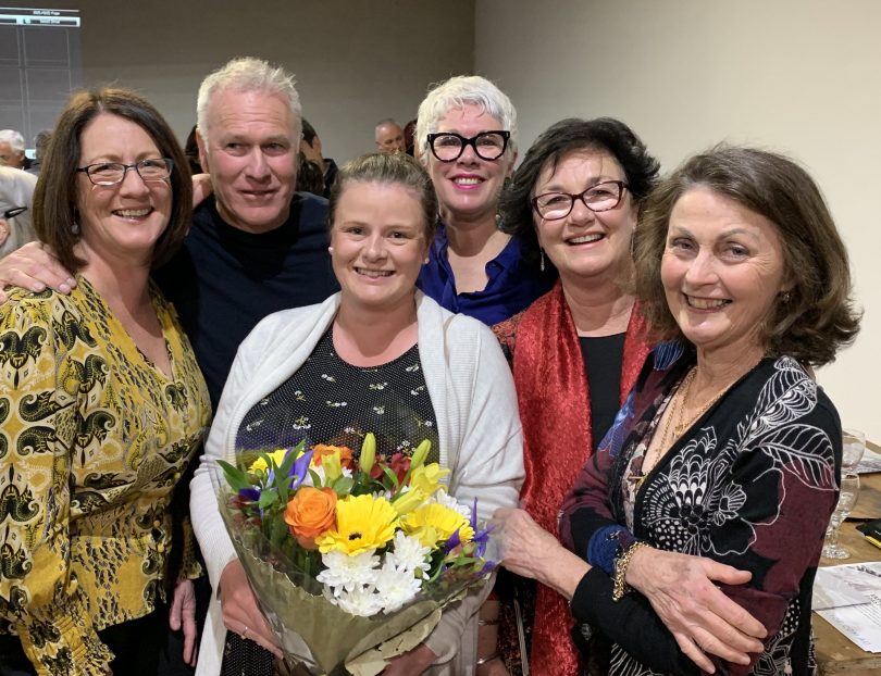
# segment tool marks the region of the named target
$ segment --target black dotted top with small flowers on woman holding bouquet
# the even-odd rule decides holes
[[[357,453],[367,433],[384,455],[412,455],[432,442],[429,462],[438,460],[434,408],[425,387],[418,346],[380,366],[352,366],[336,353],[333,328],[303,365],[245,415],[238,449],[309,445],[347,446]]]

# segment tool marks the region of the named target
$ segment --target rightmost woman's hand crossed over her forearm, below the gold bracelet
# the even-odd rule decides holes
[[[749,664],[749,652],[761,652],[765,626],[729,599],[714,583],[743,585],[752,574],[678,552],[641,548],[633,554],[626,583],[652,608],[677,639],[682,652],[702,669],[712,672],[707,654],[735,664]]]

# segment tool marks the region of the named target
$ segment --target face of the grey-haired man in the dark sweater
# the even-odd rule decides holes
[[[202,167],[211,174],[218,210],[229,225],[265,233],[287,220],[297,183],[294,113],[282,97],[221,89],[208,111]]]

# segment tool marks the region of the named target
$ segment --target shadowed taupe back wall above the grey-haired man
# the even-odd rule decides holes
[[[16,7],[79,8],[86,86],[139,89],[183,141],[196,91],[238,55],[280,63],[297,76],[303,113],[325,155],[373,150],[373,126],[415,116],[427,86],[473,64],[474,0],[54,0]],[[444,39],[426,40],[440,24]]]

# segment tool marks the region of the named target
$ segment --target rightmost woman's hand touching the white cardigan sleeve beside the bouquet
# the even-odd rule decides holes
[[[493,514],[501,535],[501,565],[511,573],[553,587],[567,599],[591,566],[566,549],[523,510],[501,508]]]

